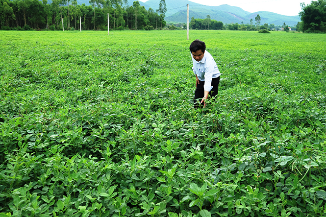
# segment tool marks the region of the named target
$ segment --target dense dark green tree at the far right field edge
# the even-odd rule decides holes
[[[303,32],[326,32],[326,0],[311,1],[308,5],[301,3],[299,15]]]

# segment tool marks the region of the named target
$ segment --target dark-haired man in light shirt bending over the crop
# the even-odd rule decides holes
[[[212,55],[205,50],[204,42],[195,40],[189,48],[193,60],[193,71],[196,75],[194,107],[197,109],[200,107],[199,102],[205,107],[208,96],[217,95],[221,73]]]

